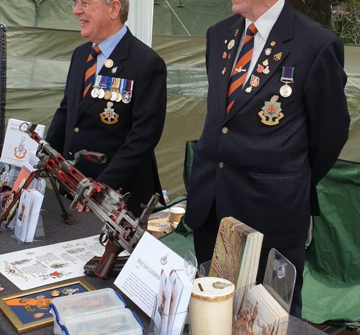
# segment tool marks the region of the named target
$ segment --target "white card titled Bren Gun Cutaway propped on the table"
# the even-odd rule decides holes
[[[183,266],[183,258],[145,232],[114,284],[151,317],[162,270],[169,275]]]

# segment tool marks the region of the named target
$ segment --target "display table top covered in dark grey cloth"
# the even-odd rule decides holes
[[[71,201],[64,199],[64,204],[68,208]],[[84,237],[90,237],[94,235],[98,235],[101,232],[102,223],[92,214],[92,213],[78,213],[76,211],[72,211],[71,213],[77,219],[78,224],[76,225],[67,225],[62,222],[60,217],[61,210],[60,206],[56,200],[55,193],[51,189],[46,190],[43,209],[45,209],[43,216],[44,222],[44,230],[45,230],[45,241],[37,242],[34,244],[26,244],[19,245],[12,237],[11,231],[2,231],[0,235],[0,254],[10,253],[17,250],[23,250],[28,248],[35,248],[44,245],[51,245],[59,242],[76,240]],[[1,229],[1,228],[0,228]],[[96,289],[101,289],[105,287],[111,287],[115,290],[118,288],[113,284],[115,277],[110,278],[109,280],[102,280],[97,277],[84,276],[92,286]],[[7,280],[2,274],[0,274],[0,284],[5,289],[0,292],[0,297],[8,294],[13,294],[16,292],[20,292],[20,290],[12,284],[9,280]],[[120,292],[121,293],[121,292]],[[122,294],[123,295],[123,294]],[[143,323],[145,329],[147,329],[150,318],[144,314],[139,308],[126,296],[124,296],[128,308],[134,311],[140,321]],[[0,334],[1,335],[15,335],[16,331],[11,327],[8,321],[4,318],[4,316],[0,313]],[[46,327],[42,329],[38,329],[35,331],[31,331],[25,334],[29,335],[51,335],[53,334],[53,326]],[[147,334],[145,332],[144,334]],[[185,333],[184,333],[185,334]],[[321,335],[325,334],[314,327],[308,325],[307,323],[293,318],[290,316],[290,327],[288,329],[288,333],[290,335]]]

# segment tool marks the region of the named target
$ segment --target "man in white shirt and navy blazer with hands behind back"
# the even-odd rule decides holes
[[[316,184],[348,138],[342,41],[287,0],[232,0],[235,15],[207,31],[207,115],[186,208],[199,262],[212,257],[221,218],[264,233],[296,267],[291,313],[301,316],[302,271]]]

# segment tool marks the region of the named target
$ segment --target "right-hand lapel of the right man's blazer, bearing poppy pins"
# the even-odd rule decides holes
[[[244,88],[241,90],[239,95],[234,101],[233,107],[230,109],[229,114],[227,115],[225,122],[228,122],[236,113],[238,113],[243,106],[252,99],[256,93],[261,90],[264,84],[274,75],[277,71],[276,69],[282,64],[286,56],[289,54],[289,50],[284,45],[284,42],[292,39],[293,37],[293,22],[294,22],[295,10],[294,8],[285,1],[284,8],[282,9],[278,19],[276,20],[274,26],[272,27],[268,40],[265,43],[264,49],[262,50],[260,57],[254,67],[252,75],[249,80],[245,83]],[[271,42],[275,42],[274,46],[271,46]],[[266,56],[265,50],[270,48],[271,55]],[[263,62],[269,62],[269,74],[259,73],[257,71],[258,66],[264,66]],[[266,64],[266,63],[265,63]],[[266,66],[264,66],[266,67]],[[246,92],[246,88],[250,87],[250,81],[252,76],[257,76],[260,78],[260,84],[256,87],[253,87],[250,93]],[[280,77],[279,77],[280,81]]]

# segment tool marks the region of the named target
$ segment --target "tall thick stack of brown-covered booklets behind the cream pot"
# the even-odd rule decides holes
[[[209,276],[230,280],[240,291],[255,283],[264,235],[233,217],[220,222]]]

